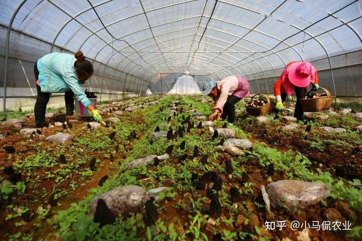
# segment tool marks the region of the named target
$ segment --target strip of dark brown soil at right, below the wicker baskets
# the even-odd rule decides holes
[[[245,118],[242,116],[240,118]],[[327,140],[331,137],[322,132],[285,132],[282,125],[242,121],[239,127],[255,140],[265,142],[281,151],[297,151],[312,161],[313,168],[329,171],[334,177],[349,180],[362,179],[362,145],[352,142],[348,146],[325,144],[324,150],[311,148],[309,140]],[[307,125],[301,126],[305,129]],[[348,141],[348,140],[346,140]]]

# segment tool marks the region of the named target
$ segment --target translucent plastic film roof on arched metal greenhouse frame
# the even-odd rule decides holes
[[[327,69],[331,56],[362,49],[360,5],[358,0],[5,0],[0,54],[5,56],[12,24],[17,35],[10,38],[10,58],[35,62],[50,52],[81,50],[99,64],[108,85],[118,72],[137,79],[134,91],[158,73],[275,77],[290,61],[329,60]],[[27,44],[26,38],[41,44]]]

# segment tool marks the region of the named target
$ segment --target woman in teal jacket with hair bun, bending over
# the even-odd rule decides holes
[[[92,106],[80,84],[92,76],[93,65],[85,60],[83,53],[78,51],[75,56],[64,53],[51,53],[38,59],[34,66],[36,87],[38,91],[34,106],[35,122],[37,128],[43,128],[45,123],[45,110],[51,93],[65,92],[65,108],[67,115],[73,115],[74,100],[77,98],[88,110],[92,111],[93,118],[102,122],[102,116]]]

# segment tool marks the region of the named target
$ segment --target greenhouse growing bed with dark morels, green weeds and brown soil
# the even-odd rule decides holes
[[[258,122],[240,112],[231,126],[200,119],[212,112],[206,99],[151,96],[103,103],[98,108],[106,126],[56,112],[47,121],[62,125],[29,135],[21,134],[35,127],[29,113],[16,125],[5,119],[0,239],[358,240],[359,109],[343,114],[336,106],[337,114],[323,112],[329,116],[323,122],[314,113],[289,124],[293,129],[284,128],[288,114],[268,114],[267,122]],[[122,112],[115,117],[116,111]],[[47,140],[54,135],[68,139]],[[305,208],[269,207],[261,190],[295,179],[322,182],[327,194],[303,203]],[[270,202],[276,200],[270,196]],[[336,220],[341,228],[349,221],[353,230],[290,226]],[[286,223],[281,230],[266,228],[280,221]]]

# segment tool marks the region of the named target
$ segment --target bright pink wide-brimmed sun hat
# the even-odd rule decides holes
[[[288,79],[295,86],[307,87],[314,72],[315,68],[309,62],[293,63],[288,72]]]

